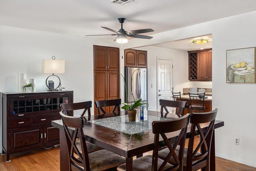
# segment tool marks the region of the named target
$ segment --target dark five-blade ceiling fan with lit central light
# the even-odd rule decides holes
[[[118,31],[112,30],[111,28],[102,27],[102,28],[104,28],[106,30],[114,32],[115,34],[100,34],[100,35],[86,35],[86,36],[105,36],[105,35],[117,36],[114,39],[114,41],[116,41],[118,43],[127,43],[128,42],[128,38],[127,37],[140,38],[140,39],[151,39],[151,38],[153,38],[151,36],[141,35],[142,33],[154,32],[154,30],[152,30],[151,28],[125,31],[123,29],[124,20],[125,20],[125,18],[118,18],[118,21],[121,23],[121,28]]]

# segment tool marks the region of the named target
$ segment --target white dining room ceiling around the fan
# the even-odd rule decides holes
[[[84,36],[111,34],[100,28],[152,28],[164,32],[256,10],[256,0],[135,0],[126,6],[110,0],[1,0],[0,24]],[[100,38],[114,39],[111,36]]]

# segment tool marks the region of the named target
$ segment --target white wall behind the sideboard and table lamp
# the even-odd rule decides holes
[[[41,73],[41,63],[42,59],[51,59],[54,55],[56,59],[66,60],[66,73],[58,76],[63,87],[74,90],[74,102],[93,101],[94,44],[119,46],[104,39],[0,26],[0,92],[17,91],[18,73],[26,73],[27,81],[35,78],[37,91],[46,90],[45,79],[49,74]],[[121,58],[120,63],[124,63]],[[2,122],[0,126],[2,128]],[[1,149],[0,144],[0,152]]]

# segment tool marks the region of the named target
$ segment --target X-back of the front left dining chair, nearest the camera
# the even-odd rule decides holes
[[[90,171],[88,150],[86,147],[83,131],[84,117],[72,117],[61,112],[60,115],[64,126],[66,141],[68,144],[70,170]],[[75,128],[74,132],[72,133],[72,131],[69,131],[68,127]],[[76,145],[77,141],[80,142],[82,151],[79,151]],[[84,167],[84,169],[81,167]]]

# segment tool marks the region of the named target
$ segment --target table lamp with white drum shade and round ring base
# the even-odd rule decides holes
[[[65,61],[56,60],[55,56],[52,56],[52,60],[42,60],[42,73],[52,74],[46,78],[45,84],[46,84],[46,87],[48,87],[48,91],[56,91],[59,87],[61,87],[61,83],[60,83],[60,78],[54,74],[65,73]],[[52,80],[49,80],[49,85],[47,84],[47,80],[51,76],[55,76],[58,78],[59,84],[57,87],[54,87],[54,82]]]

